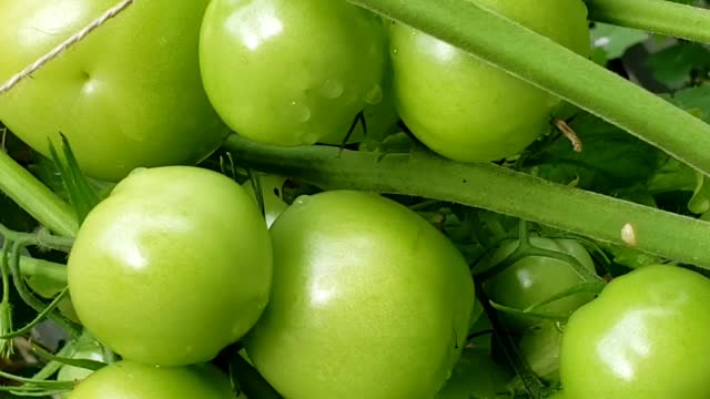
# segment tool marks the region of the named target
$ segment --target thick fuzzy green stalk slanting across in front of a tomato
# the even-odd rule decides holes
[[[710,125],[469,0],[348,1],[468,51],[710,175]]]

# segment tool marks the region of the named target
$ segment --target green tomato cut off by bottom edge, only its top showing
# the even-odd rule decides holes
[[[129,361],[83,380],[70,399],[234,399],[229,378],[214,366],[155,367]]]

